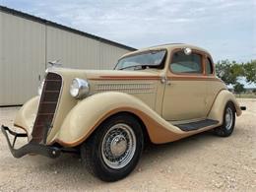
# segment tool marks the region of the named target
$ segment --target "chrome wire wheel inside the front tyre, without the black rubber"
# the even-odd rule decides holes
[[[127,124],[113,125],[103,137],[101,156],[110,168],[118,169],[127,165],[134,157],[135,150],[136,136]]]

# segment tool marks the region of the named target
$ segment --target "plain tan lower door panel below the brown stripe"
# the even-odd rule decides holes
[[[206,90],[205,81],[170,81],[165,87],[162,117],[168,121],[205,118]]]

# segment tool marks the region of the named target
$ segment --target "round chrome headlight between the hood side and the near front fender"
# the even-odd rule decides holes
[[[70,95],[75,98],[84,98],[90,93],[88,81],[75,78],[70,85]]]

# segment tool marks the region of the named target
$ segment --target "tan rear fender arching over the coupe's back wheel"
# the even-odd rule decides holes
[[[208,115],[209,118],[218,120],[220,124],[222,124],[224,120],[224,107],[228,101],[231,101],[234,104],[236,115],[240,116],[242,111],[236,98],[229,91],[222,90],[215,99],[212,109]]]

